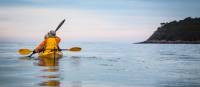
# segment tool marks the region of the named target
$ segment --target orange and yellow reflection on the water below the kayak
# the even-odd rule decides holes
[[[40,76],[45,81],[40,82],[39,86],[53,86],[60,87],[60,76],[59,76],[59,59],[58,58],[40,58],[38,66],[44,67],[42,71],[49,72],[48,75]],[[52,74],[53,73],[53,74]],[[55,74],[57,73],[57,74]]]

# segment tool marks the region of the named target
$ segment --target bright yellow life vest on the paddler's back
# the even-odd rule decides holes
[[[47,38],[44,48],[44,52],[58,51],[58,43],[56,42],[56,37]]]

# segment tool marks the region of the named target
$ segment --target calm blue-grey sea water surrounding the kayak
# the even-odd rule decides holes
[[[36,44],[0,43],[0,87],[200,87],[197,44],[62,43],[83,50],[51,67],[17,53]]]

